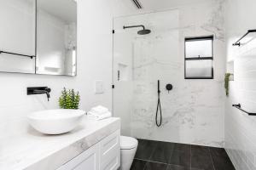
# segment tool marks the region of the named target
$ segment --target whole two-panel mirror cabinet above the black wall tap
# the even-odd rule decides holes
[[[74,0],[0,0],[0,71],[76,76]]]

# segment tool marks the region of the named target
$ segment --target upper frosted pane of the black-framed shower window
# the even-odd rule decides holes
[[[212,40],[186,42],[186,58],[212,57]]]

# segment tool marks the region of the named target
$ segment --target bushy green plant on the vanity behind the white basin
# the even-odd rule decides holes
[[[61,97],[59,98],[59,105],[61,109],[79,109],[80,95],[74,89],[67,90],[63,88]]]

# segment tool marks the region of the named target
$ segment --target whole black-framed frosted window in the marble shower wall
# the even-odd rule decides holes
[[[185,79],[213,79],[213,36],[185,38]]]

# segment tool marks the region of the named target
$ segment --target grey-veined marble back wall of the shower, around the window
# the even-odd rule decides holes
[[[143,24],[152,33],[138,38],[137,29],[122,26]],[[131,135],[139,139],[154,139],[178,143],[223,146],[224,144],[224,3],[207,1],[175,8],[162,13],[140,14],[114,20],[114,54],[127,57],[127,42],[134,43],[133,94],[130,88],[114,90],[113,105],[126,102],[115,116],[131,115]],[[130,33],[133,37],[125,37]],[[125,34],[120,38],[122,34]],[[133,35],[133,36],[132,36]],[[214,80],[184,80],[184,37],[214,35]],[[137,39],[136,39],[137,37]],[[124,46],[122,48],[122,46]],[[126,48],[125,48],[126,47]],[[129,46],[130,47],[130,46]],[[132,50],[132,48],[129,48]],[[115,62],[114,62],[115,63]],[[115,77],[114,77],[115,78]],[[163,125],[154,122],[157,105],[157,80],[161,80]],[[128,84],[129,83],[129,84]],[[166,83],[173,84],[168,94]],[[124,99],[125,96],[125,99]],[[125,127],[127,123],[125,122]],[[124,125],[123,125],[124,126]],[[125,133],[127,129],[125,130]]]

